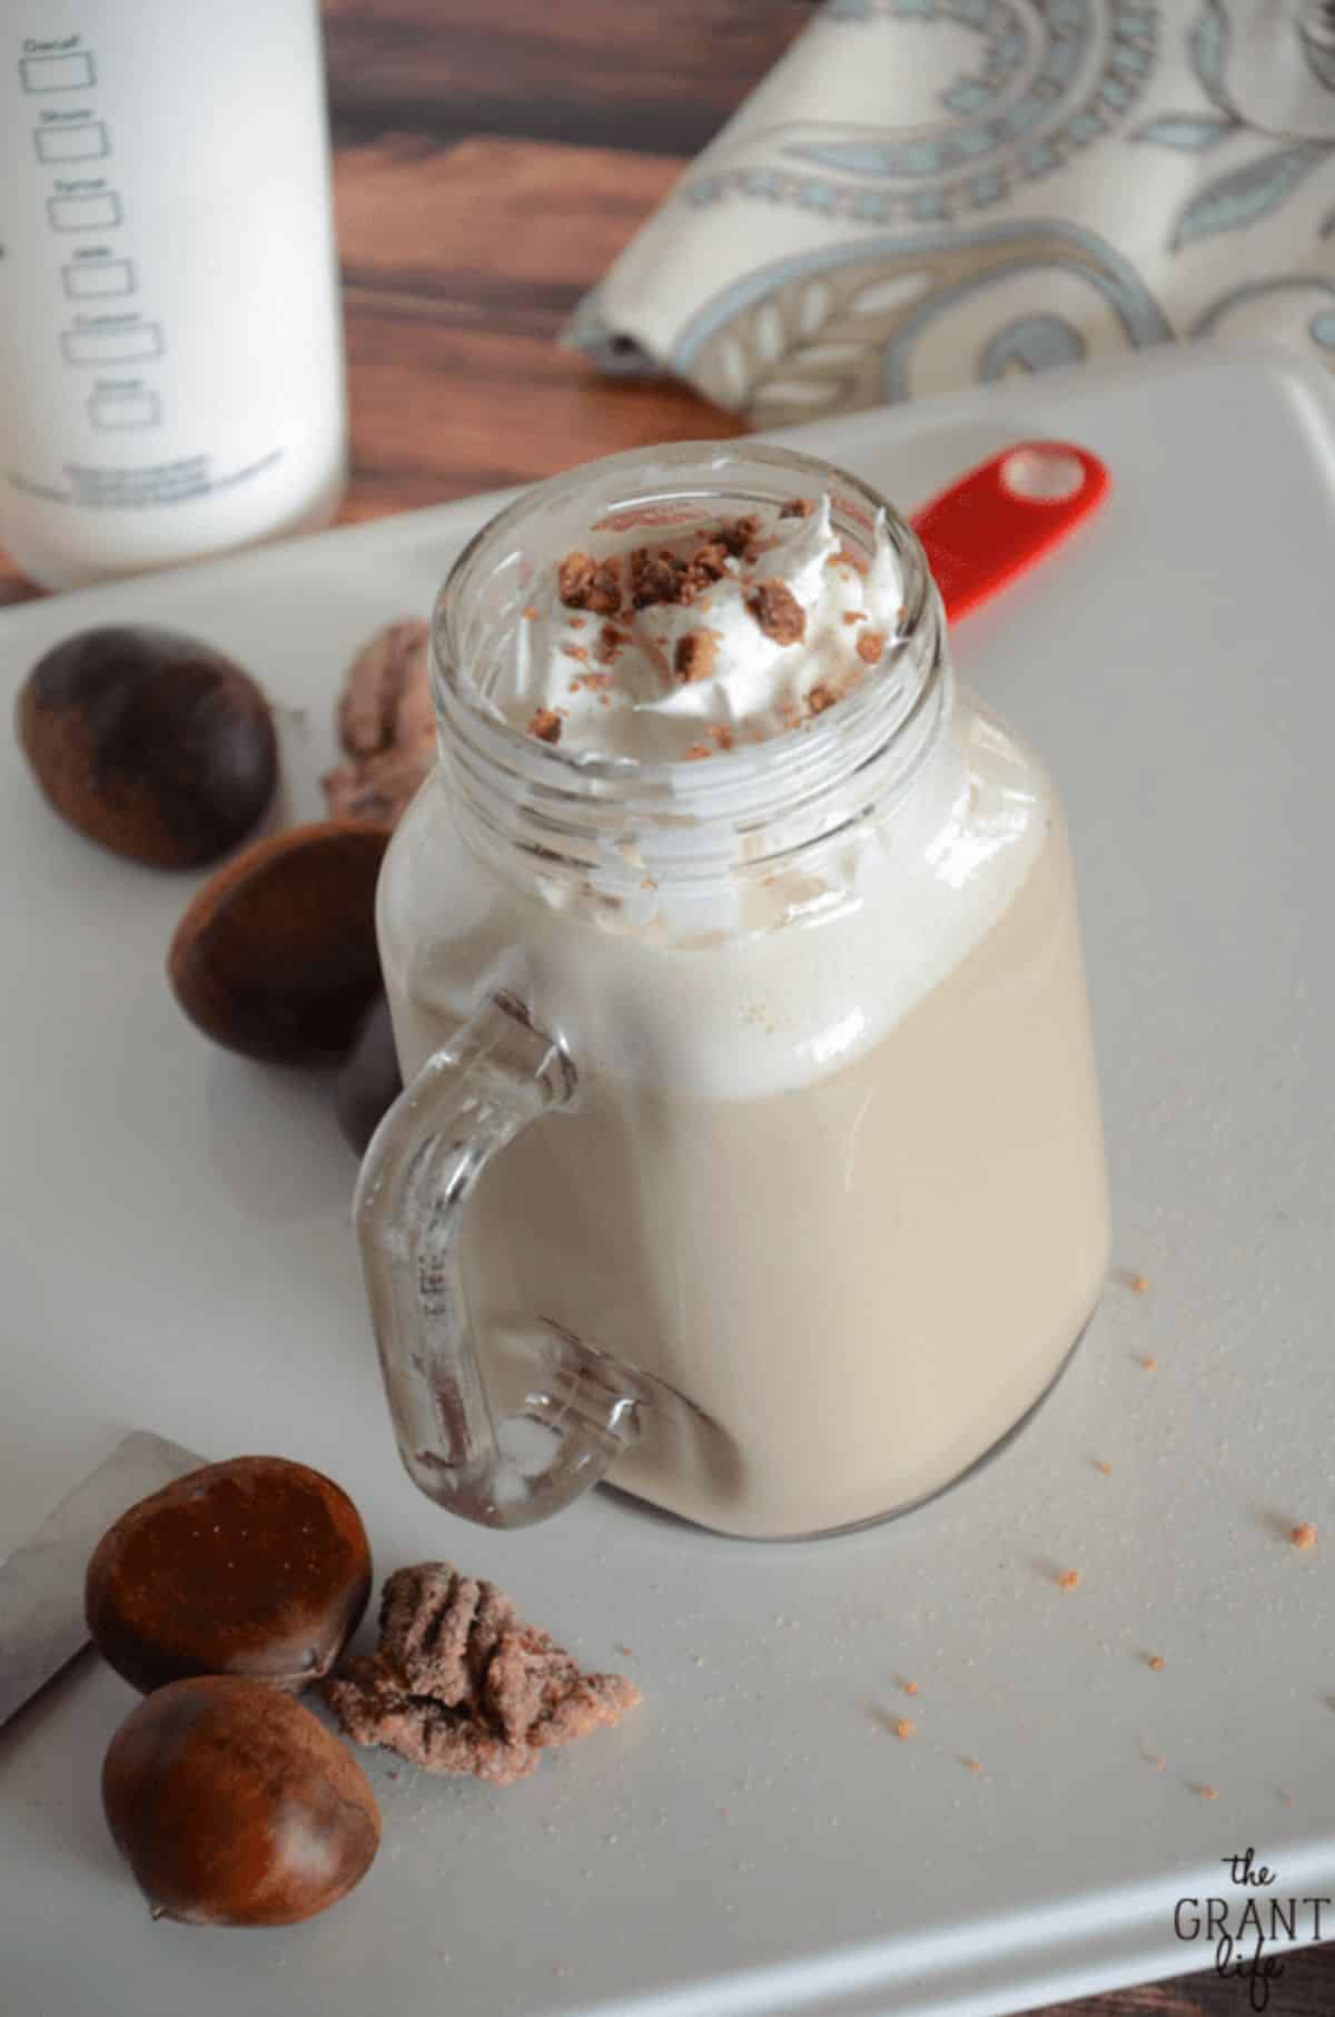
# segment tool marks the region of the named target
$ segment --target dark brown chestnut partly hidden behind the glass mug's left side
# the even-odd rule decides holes
[[[196,894],[167,952],[206,1037],[274,1065],[337,1065],[379,988],[385,827],[317,821],[254,841]]]

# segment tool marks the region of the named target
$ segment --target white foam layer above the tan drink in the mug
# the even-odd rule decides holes
[[[742,912],[734,934],[690,944],[674,940],[670,914],[635,926],[615,906],[553,908],[498,887],[478,875],[454,817],[438,773],[381,875],[381,956],[407,1071],[522,948],[508,984],[569,1039],[581,1071],[750,1099],[803,1087],[889,1035],[1006,912],[1053,807],[1028,750],[962,696],[875,847],[859,845],[843,869],[827,863],[833,902],[819,922],[748,932]],[[434,942],[440,962],[421,950]]]

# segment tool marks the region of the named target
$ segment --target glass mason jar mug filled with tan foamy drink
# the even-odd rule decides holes
[[[837,706],[657,764],[488,708],[591,528],[813,490],[853,553],[883,512],[903,581]],[[405,1091],[357,1192],[409,1474],[506,1527],[601,1476],[756,1537],[926,1499],[1047,1392],[1109,1232],[1061,811],[956,686],[914,532],[782,450],[613,456],[474,539],[434,651],[379,887]]]

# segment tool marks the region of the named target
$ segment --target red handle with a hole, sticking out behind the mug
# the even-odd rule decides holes
[[[1073,532],[1107,496],[1097,456],[1071,442],[1016,442],[914,516],[954,623]]]

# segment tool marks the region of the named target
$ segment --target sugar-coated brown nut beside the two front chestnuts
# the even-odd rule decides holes
[[[325,1696],[355,1743],[423,1771],[512,1785],[544,1749],[619,1723],[641,1698],[621,1674],[585,1674],[494,1583],[448,1561],[387,1579],[379,1632],[377,1650],[349,1660]]]

